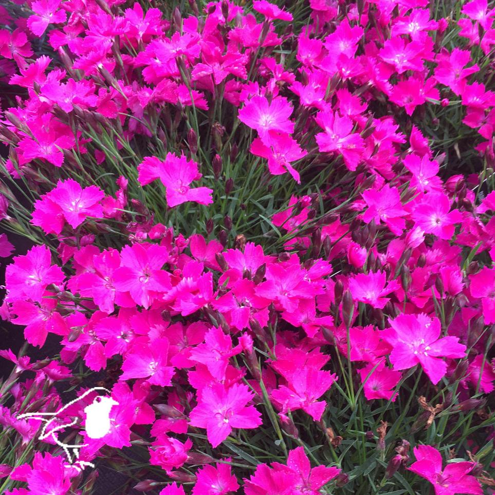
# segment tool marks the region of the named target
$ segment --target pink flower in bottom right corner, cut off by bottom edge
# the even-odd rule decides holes
[[[473,462],[450,463],[442,469],[441,453],[429,445],[414,447],[414,455],[416,462],[408,469],[428,480],[435,489],[435,495],[483,495],[480,482],[468,474],[475,465]]]

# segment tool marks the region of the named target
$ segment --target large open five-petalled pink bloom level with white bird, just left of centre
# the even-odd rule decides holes
[[[261,415],[254,406],[246,406],[252,399],[248,387],[234,383],[225,388],[216,383],[201,390],[198,405],[191,411],[190,424],[206,428],[208,441],[218,447],[230,434],[232,428],[256,428],[261,425]]]

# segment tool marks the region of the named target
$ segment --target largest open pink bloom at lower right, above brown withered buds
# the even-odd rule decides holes
[[[399,315],[389,320],[391,328],[381,332],[381,337],[392,347],[390,362],[395,370],[407,370],[420,364],[433,384],[437,384],[447,371],[447,364],[439,357],[463,358],[466,346],[457,337],[440,337],[438,318],[425,314]]]

